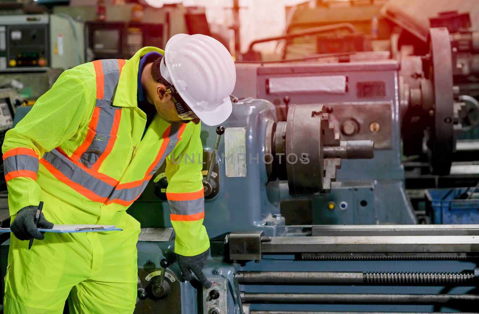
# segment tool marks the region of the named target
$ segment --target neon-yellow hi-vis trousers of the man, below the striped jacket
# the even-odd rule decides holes
[[[46,232],[30,251],[28,240],[11,234],[4,314],[62,314],[67,298],[70,313],[132,314],[140,224],[126,212],[103,218],[53,196],[42,200],[45,218],[54,224],[115,224],[123,231]]]

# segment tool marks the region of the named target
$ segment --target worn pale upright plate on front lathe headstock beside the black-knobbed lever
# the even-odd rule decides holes
[[[246,177],[246,128],[225,130],[225,171],[227,177]]]

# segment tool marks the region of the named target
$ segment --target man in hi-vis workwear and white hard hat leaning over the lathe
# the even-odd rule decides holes
[[[162,56],[164,54],[164,56]],[[223,123],[236,81],[228,50],[177,34],[165,51],[69,69],[9,130],[2,146],[12,216],[5,314],[131,314],[137,300],[139,223],[125,212],[166,161],[175,253],[185,280],[209,252],[203,226],[200,120]],[[53,224],[115,224],[123,231],[40,233]],[[28,251],[28,240],[35,241]]]

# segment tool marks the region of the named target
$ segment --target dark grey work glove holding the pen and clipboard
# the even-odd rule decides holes
[[[17,237],[17,239],[30,240],[31,237],[34,237],[37,240],[43,240],[45,238],[45,236],[40,231],[38,231],[37,227],[35,226],[34,219],[37,209],[37,206],[26,206],[17,213],[17,216],[10,224],[11,232],[14,236]],[[40,214],[38,228],[53,228],[53,224],[49,221],[46,221],[43,213]]]

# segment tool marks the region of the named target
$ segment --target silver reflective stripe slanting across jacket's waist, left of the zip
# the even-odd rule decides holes
[[[114,186],[93,177],[56,149],[46,152],[43,158],[68,179],[80,184],[85,189],[92,191],[100,197],[108,198],[114,189]]]

